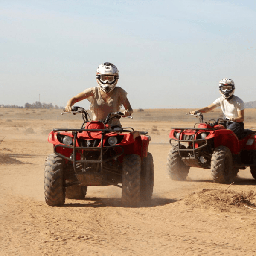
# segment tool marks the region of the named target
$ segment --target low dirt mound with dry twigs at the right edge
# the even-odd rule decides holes
[[[233,190],[203,189],[199,193],[187,195],[179,202],[192,208],[219,209],[229,211],[234,207],[244,207],[244,205],[256,207],[252,201],[255,197],[253,191],[236,192]]]

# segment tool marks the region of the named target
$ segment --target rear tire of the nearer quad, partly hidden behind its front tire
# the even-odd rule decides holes
[[[152,198],[154,187],[154,163],[153,157],[148,153],[143,158],[140,176],[140,201],[149,201]]]

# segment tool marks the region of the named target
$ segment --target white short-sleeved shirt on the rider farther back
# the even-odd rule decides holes
[[[236,118],[238,117],[237,111],[244,110],[244,102],[238,97],[233,96],[232,99],[227,100],[223,96],[216,99],[213,102],[217,107],[221,107],[221,110],[227,118]]]

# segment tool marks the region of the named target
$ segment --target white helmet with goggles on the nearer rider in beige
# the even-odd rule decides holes
[[[97,82],[105,93],[110,93],[116,87],[118,78],[118,69],[110,62],[102,63],[96,70]]]

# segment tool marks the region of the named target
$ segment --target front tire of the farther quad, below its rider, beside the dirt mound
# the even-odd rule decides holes
[[[232,153],[229,148],[219,146],[215,148],[211,160],[211,174],[215,183],[232,183],[236,172],[233,172]],[[236,173],[236,174],[235,174]]]

